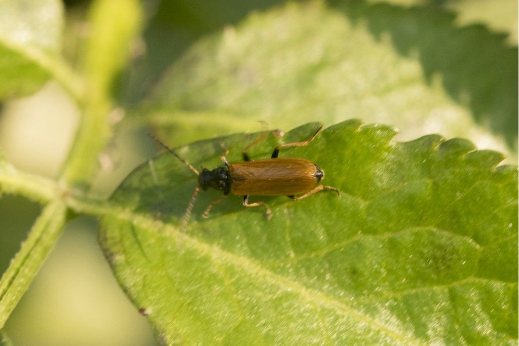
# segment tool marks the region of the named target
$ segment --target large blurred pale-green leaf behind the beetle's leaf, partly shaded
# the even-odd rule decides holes
[[[501,36],[460,29],[431,6],[329,3],[255,13],[198,41],[148,100],[149,116],[171,113],[177,145],[184,111],[227,114],[235,127],[244,118],[290,128],[358,117],[394,124],[401,140],[437,131],[488,145],[482,124],[514,147],[517,51]]]

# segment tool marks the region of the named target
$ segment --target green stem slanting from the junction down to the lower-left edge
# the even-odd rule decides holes
[[[62,201],[47,205],[36,220],[29,237],[12,259],[0,279],[0,329],[20,301],[56,243],[65,223],[66,206]]]

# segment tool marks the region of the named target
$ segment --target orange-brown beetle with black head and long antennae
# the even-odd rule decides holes
[[[193,197],[189,201],[183,217],[182,229],[185,230],[200,188],[203,190],[213,188],[215,190],[221,190],[224,193],[222,198],[208,205],[207,209],[202,213],[203,217],[208,217],[212,207],[220,203],[229,193],[243,196],[243,206],[245,207],[263,206],[267,220],[270,220],[272,217],[269,206],[262,201],[249,203],[249,196],[286,196],[294,201],[302,200],[319,191],[333,191],[340,196],[340,191],[335,187],[319,185],[324,178],[324,171],[317,164],[303,158],[278,158],[279,149],[307,146],[322,129],[322,126],[319,127],[317,131],[304,142],[278,145],[274,151],[272,151],[270,159],[251,160],[247,154],[247,149],[265,139],[265,135],[263,135],[243,149],[243,162],[229,164],[226,158],[228,150],[226,150],[221,155],[222,162],[224,163],[223,167],[218,167],[213,170],[203,168],[201,172],[177,155],[175,151],[170,149],[166,144],[154,136],[150,136],[170,151],[177,159],[182,161],[198,177],[198,185],[193,192]]]

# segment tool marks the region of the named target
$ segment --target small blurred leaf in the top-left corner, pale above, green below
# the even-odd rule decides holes
[[[0,2],[0,99],[38,90],[49,78],[78,97],[79,81],[59,58],[59,0]]]

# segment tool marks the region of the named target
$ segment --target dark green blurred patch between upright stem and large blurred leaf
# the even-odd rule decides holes
[[[122,87],[121,102],[139,103],[169,65],[198,38],[220,31],[225,25],[238,23],[251,11],[281,3],[282,0],[148,2],[150,18],[143,32],[146,53],[130,66]]]

